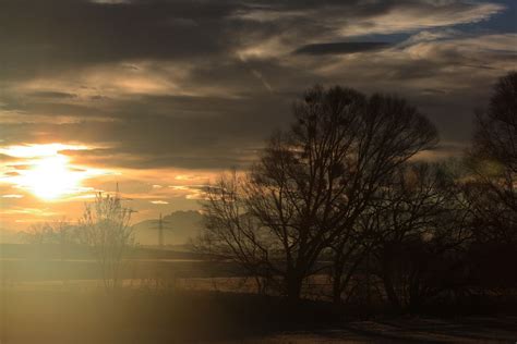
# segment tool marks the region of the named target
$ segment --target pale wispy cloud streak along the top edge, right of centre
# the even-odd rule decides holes
[[[320,5],[317,5],[320,3]],[[450,1],[297,1],[268,7],[247,7],[235,16],[258,23],[304,22],[344,36],[393,34],[422,28],[477,23],[501,13],[505,5],[491,2]]]

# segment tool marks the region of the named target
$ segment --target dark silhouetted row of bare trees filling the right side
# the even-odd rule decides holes
[[[376,297],[414,312],[515,295],[517,73],[498,79],[456,160],[425,157],[437,131],[396,96],[316,86],[293,115],[249,171],[206,189],[197,249],[292,302]]]

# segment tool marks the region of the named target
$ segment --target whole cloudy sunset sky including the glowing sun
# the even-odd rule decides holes
[[[315,84],[407,98],[434,158],[516,70],[516,1],[1,0],[0,229],[76,219],[118,183],[134,220],[197,209]]]

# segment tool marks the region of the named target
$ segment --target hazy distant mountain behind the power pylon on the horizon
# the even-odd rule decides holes
[[[183,245],[189,238],[197,236],[202,229],[200,212],[195,210],[175,211],[163,218],[164,244]],[[158,245],[158,219],[145,220],[133,225],[136,243],[141,245]]]

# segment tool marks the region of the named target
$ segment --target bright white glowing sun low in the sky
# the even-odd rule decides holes
[[[75,193],[82,175],[69,168],[67,157],[58,155],[35,161],[22,173],[22,184],[39,198],[52,200]]]

